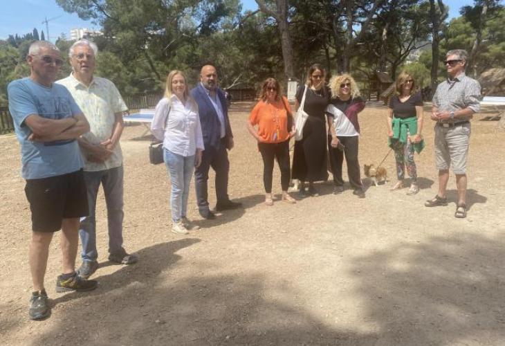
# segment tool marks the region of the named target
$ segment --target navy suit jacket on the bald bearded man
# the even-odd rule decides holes
[[[228,119],[228,107],[226,106],[226,98],[223,91],[219,88],[216,89],[217,97],[223,106],[224,127],[225,127],[225,140],[233,137],[232,128],[230,127],[230,120]],[[203,135],[203,145],[205,152],[217,151],[221,141],[221,122],[217,116],[217,112],[209,100],[207,91],[201,83],[191,91],[192,98],[198,104],[198,113],[200,116],[201,131]],[[228,145],[227,145],[228,146]]]

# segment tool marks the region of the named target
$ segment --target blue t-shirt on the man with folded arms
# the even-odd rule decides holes
[[[41,179],[80,170],[84,163],[77,140],[32,142],[28,140],[32,131],[25,123],[31,114],[48,119],[82,114],[68,90],[59,84],[48,87],[23,78],[10,82],[7,92],[9,111],[21,144],[21,176],[24,179]]]

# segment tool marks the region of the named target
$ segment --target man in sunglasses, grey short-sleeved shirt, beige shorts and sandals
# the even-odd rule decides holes
[[[479,111],[479,82],[465,75],[468,53],[448,51],[448,78],[437,86],[433,96],[431,119],[435,123],[435,164],[439,170],[439,192],[425,206],[447,206],[449,167],[456,175],[458,201],[455,217],[466,217],[466,163],[470,140],[470,119]]]

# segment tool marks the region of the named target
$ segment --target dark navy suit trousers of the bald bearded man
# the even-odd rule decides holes
[[[216,197],[217,202],[228,201],[228,172],[230,161],[226,152],[225,140],[221,139],[219,149],[207,150],[202,154],[199,167],[194,170],[194,188],[196,190],[196,203],[199,210],[209,210],[207,181],[209,180],[210,167],[216,172]]]

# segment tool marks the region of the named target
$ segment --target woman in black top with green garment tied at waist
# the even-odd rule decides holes
[[[421,131],[423,130],[423,97],[415,91],[412,75],[400,73],[396,78],[396,93],[389,99],[387,116],[387,136],[389,147],[394,149],[396,176],[398,182],[392,190],[403,188],[405,167],[410,176],[410,189],[407,194],[419,192],[417,185],[417,168],[414,162],[414,150],[421,152],[424,146]]]

